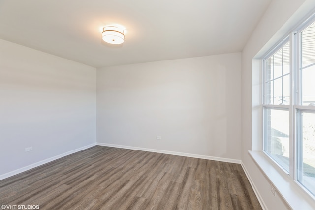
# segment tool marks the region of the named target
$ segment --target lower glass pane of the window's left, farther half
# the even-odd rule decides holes
[[[289,112],[265,109],[264,151],[289,171]]]

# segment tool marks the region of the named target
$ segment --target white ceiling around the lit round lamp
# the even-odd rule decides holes
[[[270,1],[0,0],[0,38],[94,67],[241,52]]]

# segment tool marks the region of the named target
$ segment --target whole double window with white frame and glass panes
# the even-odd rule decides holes
[[[263,151],[315,195],[315,18],[263,60]]]

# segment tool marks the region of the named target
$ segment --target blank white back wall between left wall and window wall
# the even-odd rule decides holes
[[[97,142],[240,160],[241,53],[97,69]]]

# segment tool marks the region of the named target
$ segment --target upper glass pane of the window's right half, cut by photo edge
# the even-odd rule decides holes
[[[315,105],[315,22],[301,32],[302,105]]]

